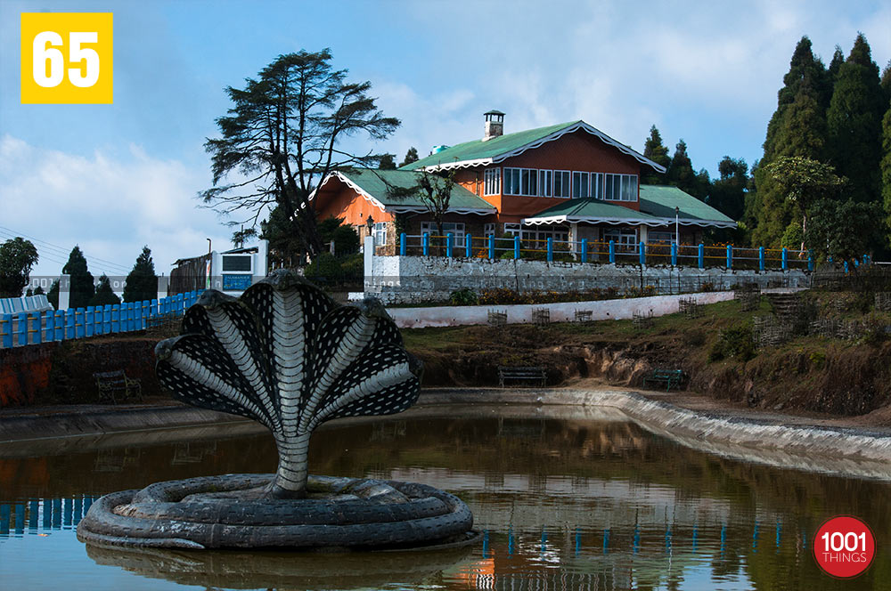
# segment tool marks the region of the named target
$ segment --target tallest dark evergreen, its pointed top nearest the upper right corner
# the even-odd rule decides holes
[[[838,69],[826,122],[830,162],[850,179],[848,195],[864,203],[879,198],[881,120],[887,109],[882,95],[879,67],[859,34]]]

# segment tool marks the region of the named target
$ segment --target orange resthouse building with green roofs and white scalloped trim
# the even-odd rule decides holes
[[[437,232],[421,195],[401,195],[392,187],[413,187],[421,170],[454,169],[444,231],[454,234],[455,247],[463,247],[467,235],[509,234],[524,241],[614,240],[617,248],[631,249],[675,239],[697,244],[707,227],[736,226],[683,190],[642,185],[642,173],[665,168],[584,121],[513,134],[503,128],[504,114],[489,111],[481,139],[437,146],[397,170],[330,174],[312,196],[315,209],[320,219],[343,218],[360,237],[372,231],[375,245],[391,254],[397,215],[409,235]]]

